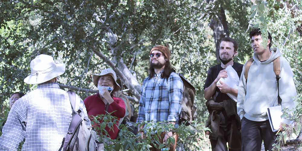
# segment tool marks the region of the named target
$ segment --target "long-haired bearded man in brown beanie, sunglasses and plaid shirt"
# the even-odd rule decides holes
[[[182,110],[183,82],[175,73],[175,69],[171,67],[170,55],[169,48],[163,45],[157,45],[150,51],[149,76],[143,81],[137,123],[146,120],[148,122],[169,121],[174,125],[178,124],[178,115]],[[144,125],[139,127],[138,131],[144,137],[142,128]],[[171,136],[174,137],[175,142],[169,144],[169,150],[174,151],[178,134],[163,131],[159,139],[161,143],[165,143]],[[151,150],[160,150],[154,147],[153,143],[150,145]]]

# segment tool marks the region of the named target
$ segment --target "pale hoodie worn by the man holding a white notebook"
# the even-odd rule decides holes
[[[295,108],[294,98],[297,95],[294,84],[294,74],[287,60],[281,56],[278,48],[271,48],[271,56],[268,60],[260,62],[258,56],[254,53],[254,61],[249,68],[247,83],[244,77],[246,63],[240,76],[237,113],[242,119],[246,117],[252,121],[268,120],[266,114],[267,108],[278,105],[278,88],[276,75],[273,68],[273,60],[280,56],[280,79],[279,95],[282,99],[282,109]],[[287,121],[282,119],[282,121]]]

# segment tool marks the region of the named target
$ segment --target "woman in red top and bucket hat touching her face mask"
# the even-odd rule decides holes
[[[100,74],[94,73],[92,75],[93,84],[99,89],[99,92],[95,95],[88,96],[84,100],[88,116],[97,116],[100,114],[112,113],[112,116],[117,117],[117,121],[125,116],[125,103],[121,98],[113,96],[112,92],[120,90],[120,85],[116,82],[115,72],[108,68],[101,71]],[[93,118],[91,118],[93,119]],[[99,119],[99,122],[103,121]],[[108,137],[115,139],[118,134],[118,123],[113,125],[113,130],[110,127],[106,127]],[[94,126],[97,126],[95,124]],[[103,133],[103,135],[105,135]]]

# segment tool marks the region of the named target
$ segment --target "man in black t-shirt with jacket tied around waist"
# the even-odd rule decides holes
[[[238,43],[236,40],[226,37],[220,42],[219,59],[220,64],[213,66],[207,72],[208,76],[204,85],[204,98],[207,100],[209,119],[206,127],[211,129],[206,134],[210,135],[210,142],[213,151],[227,151],[241,149],[240,117],[237,114],[236,102],[226,93],[237,97],[238,90],[231,88],[220,81],[226,78],[226,67],[231,65],[237,72],[239,78],[242,72],[242,64],[233,62],[233,57],[237,54]],[[226,143],[228,142],[228,148]]]

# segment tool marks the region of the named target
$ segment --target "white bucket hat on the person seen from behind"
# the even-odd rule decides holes
[[[56,64],[53,57],[41,54],[31,60],[31,75],[24,79],[27,84],[47,82],[65,72],[65,64]]]

